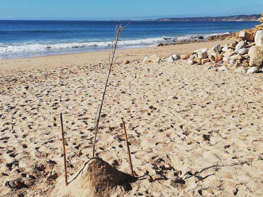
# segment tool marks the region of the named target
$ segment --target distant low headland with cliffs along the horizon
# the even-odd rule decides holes
[[[189,17],[189,18],[158,18],[144,19],[138,21],[259,21],[261,15],[236,15],[218,17]],[[131,21],[131,20],[112,20],[112,21]]]

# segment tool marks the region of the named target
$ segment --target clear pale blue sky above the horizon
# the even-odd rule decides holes
[[[0,20],[137,20],[261,12],[263,0],[0,0]]]

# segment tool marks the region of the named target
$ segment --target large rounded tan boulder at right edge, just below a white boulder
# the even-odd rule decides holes
[[[249,66],[261,67],[263,64],[263,46],[253,46],[248,50]]]

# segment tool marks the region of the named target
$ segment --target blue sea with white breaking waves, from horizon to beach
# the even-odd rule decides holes
[[[111,49],[119,21],[0,20],[0,59]],[[127,24],[128,22],[122,22]],[[132,21],[119,49],[155,46],[250,29],[257,21]]]

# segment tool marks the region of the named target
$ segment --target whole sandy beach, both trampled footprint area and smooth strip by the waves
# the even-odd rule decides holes
[[[115,65],[102,109],[109,114],[95,153],[119,171],[86,163],[109,51],[0,60],[0,196],[262,196],[262,73],[207,71],[185,60],[141,63],[153,53],[163,59],[230,42],[117,51],[118,62],[140,63]],[[67,133],[67,187],[60,112]],[[128,175],[122,117],[134,179]],[[106,173],[107,183],[87,173],[96,167],[93,175]],[[123,177],[128,181],[120,184]],[[2,186],[16,179],[24,188]]]

